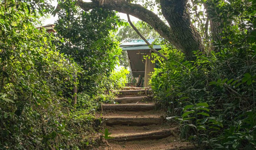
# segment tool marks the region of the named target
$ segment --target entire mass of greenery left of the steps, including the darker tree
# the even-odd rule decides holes
[[[110,33],[121,22],[114,12],[63,10],[54,35],[35,28],[51,10],[46,1],[1,4],[0,149],[92,144],[94,111],[107,100],[102,95],[125,82],[127,72],[114,71],[121,52]],[[102,23],[94,26],[99,18]]]

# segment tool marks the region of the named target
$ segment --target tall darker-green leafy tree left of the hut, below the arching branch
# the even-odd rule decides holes
[[[112,31],[122,24],[116,12],[106,9],[93,9],[85,12],[75,6],[74,1],[60,1],[61,11],[56,23],[57,36],[61,53],[74,58],[82,66],[79,74],[79,90],[95,91],[109,88],[109,78],[121,54],[119,43]],[[105,82],[104,82],[105,81]]]

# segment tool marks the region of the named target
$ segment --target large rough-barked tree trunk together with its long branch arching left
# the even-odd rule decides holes
[[[92,0],[92,2],[78,0],[77,5],[84,11],[101,7],[139,18],[152,26],[154,30],[176,48],[181,49],[188,60],[194,60],[195,57],[193,57],[192,51],[204,51],[204,46],[200,34],[190,22],[186,3],[187,0],[161,0],[162,12],[169,26],[152,11],[139,4],[132,4],[125,0]]]

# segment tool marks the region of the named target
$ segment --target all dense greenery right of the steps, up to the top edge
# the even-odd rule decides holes
[[[153,73],[155,99],[167,110],[167,119],[181,125],[181,138],[201,148],[256,148],[255,2],[215,3],[211,15],[218,14],[215,19],[222,23],[221,40],[214,41],[200,28],[212,50],[194,51],[197,59],[187,61],[183,53],[165,45],[162,53],[168,61],[159,63]],[[192,19],[205,27],[207,14],[197,13]]]

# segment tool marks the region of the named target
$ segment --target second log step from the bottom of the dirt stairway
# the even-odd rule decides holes
[[[136,125],[162,124],[163,117],[104,117],[106,125]]]

